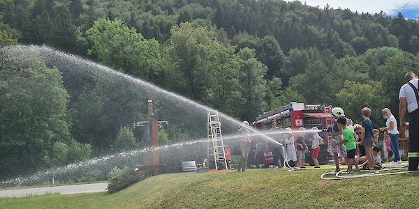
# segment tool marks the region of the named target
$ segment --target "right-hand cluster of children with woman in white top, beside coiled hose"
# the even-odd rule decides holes
[[[383,109],[383,116],[393,117],[388,114],[388,109]],[[348,166],[348,172],[353,171],[353,165],[355,165],[355,171],[359,171],[358,164],[363,165],[363,169],[380,169],[382,166],[381,162],[381,149],[378,146],[379,130],[373,128],[373,123],[369,116],[371,116],[371,109],[365,107],[361,110],[363,121],[360,125],[356,124],[353,129],[350,127],[352,121],[346,118],[344,110],[340,107],[332,109],[332,115],[337,118],[335,123],[332,125],[328,134],[330,141],[328,143],[328,151],[335,158],[336,170],[339,172],[339,157],[344,157]],[[390,115],[390,116],[388,116]],[[394,118],[394,117],[393,117]],[[388,152],[387,160],[390,161],[392,156],[392,150],[397,150],[398,145],[390,145],[390,136],[386,131],[389,129],[398,135],[397,124],[386,124],[386,127],[382,127],[380,130],[384,132],[385,136],[385,150]],[[358,150],[358,151],[357,151]],[[392,164],[402,163],[399,160],[399,156],[395,156]]]

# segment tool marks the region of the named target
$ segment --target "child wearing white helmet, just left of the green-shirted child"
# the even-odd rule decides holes
[[[336,119],[339,117],[345,117],[344,109],[341,107],[334,107],[332,109],[332,116],[335,118],[335,123],[333,123],[332,128],[328,130],[329,139],[328,140],[328,152],[335,159],[335,172],[339,172],[339,157],[346,157],[346,149],[343,144],[340,144],[342,141],[342,132],[339,130]]]

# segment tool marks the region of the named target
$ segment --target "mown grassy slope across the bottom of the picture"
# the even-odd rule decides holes
[[[326,181],[325,170],[174,173],[117,194],[0,199],[0,208],[417,208],[419,175]]]

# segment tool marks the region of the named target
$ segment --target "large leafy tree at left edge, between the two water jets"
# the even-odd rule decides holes
[[[66,114],[68,93],[57,68],[36,54],[14,48],[0,51],[0,176],[33,171],[80,158],[55,160],[54,144],[73,144]],[[78,148],[74,144],[73,148]],[[84,153],[84,151],[82,152]]]

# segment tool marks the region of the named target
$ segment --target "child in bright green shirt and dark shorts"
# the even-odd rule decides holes
[[[359,171],[358,160],[355,158],[356,153],[356,143],[355,138],[353,137],[353,132],[350,128],[346,127],[346,118],[340,117],[337,118],[337,125],[339,130],[341,130],[344,135],[344,140],[340,144],[345,144],[346,148],[346,164],[348,165],[348,172],[352,171],[352,165],[355,164],[355,171]]]

